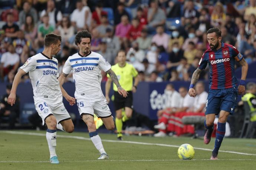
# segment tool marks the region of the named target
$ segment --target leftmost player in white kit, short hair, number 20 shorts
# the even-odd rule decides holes
[[[64,89],[60,89],[58,77],[58,60],[53,55],[60,51],[61,37],[55,34],[45,36],[45,49],[42,53],[36,54],[24,63],[15,75],[12,90],[7,102],[13,105],[16,100],[16,90],[22,75],[29,72],[32,82],[36,110],[46,123],[46,139],[50,151],[50,162],[58,164],[59,160],[55,152],[56,128],[71,133],[74,125],[69,113],[62,102],[62,93],[70,105],[75,104],[72,98]],[[61,91],[62,90],[62,91]]]

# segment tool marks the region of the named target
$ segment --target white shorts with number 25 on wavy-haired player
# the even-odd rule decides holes
[[[87,98],[78,98],[76,99],[78,110],[80,116],[82,115],[92,115],[98,116],[98,118],[108,118],[111,116],[111,111],[106,103],[106,98],[102,96],[99,99],[87,99]]]

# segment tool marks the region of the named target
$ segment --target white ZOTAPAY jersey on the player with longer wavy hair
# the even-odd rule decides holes
[[[101,69],[108,71],[111,65],[96,52],[82,56],[76,53],[70,56],[62,69],[64,74],[73,71],[76,86],[75,98],[97,99],[104,97],[101,90]]]

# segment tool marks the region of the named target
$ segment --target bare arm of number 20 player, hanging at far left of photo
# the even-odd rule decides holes
[[[16,91],[17,91],[17,86],[19,85],[20,83],[20,78],[26,74],[26,72],[23,70],[23,69],[20,69],[17,74],[15,75],[14,77],[14,80],[13,80],[13,85],[12,85],[12,89],[11,89],[11,92],[10,92],[10,95],[7,99],[7,102],[13,106],[15,101],[16,101]]]

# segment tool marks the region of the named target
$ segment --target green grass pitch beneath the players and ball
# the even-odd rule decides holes
[[[109,160],[97,160],[99,153],[88,133],[58,131],[56,153],[60,164],[50,164],[44,131],[0,131],[0,170],[236,170],[255,169],[256,165],[256,139],[224,138],[220,150],[227,152],[219,152],[219,160],[209,160],[214,139],[204,145],[202,139],[189,137],[124,136],[120,142],[116,135],[99,135]],[[178,158],[178,146],[184,143],[195,149],[192,160]]]

